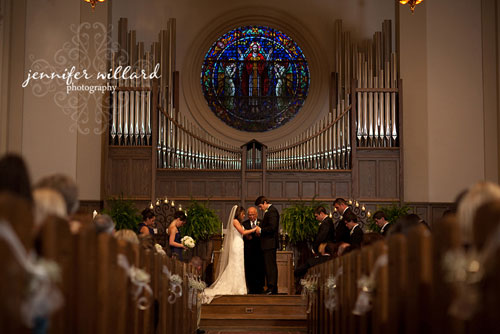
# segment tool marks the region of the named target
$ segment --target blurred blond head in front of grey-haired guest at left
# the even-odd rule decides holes
[[[48,216],[67,218],[66,203],[61,194],[49,188],[33,190],[35,203],[35,228],[38,228]]]

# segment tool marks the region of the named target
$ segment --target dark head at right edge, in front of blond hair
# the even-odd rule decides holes
[[[498,236],[500,228],[500,200],[484,203],[474,215],[474,245],[482,250],[491,238]]]

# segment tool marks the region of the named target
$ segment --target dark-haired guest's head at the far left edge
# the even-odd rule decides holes
[[[19,155],[6,154],[0,159],[0,192],[2,191],[33,201],[28,168]]]

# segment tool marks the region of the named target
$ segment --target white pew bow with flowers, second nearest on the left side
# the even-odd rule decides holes
[[[125,269],[130,282],[132,282],[135,286],[133,296],[136,301],[137,308],[142,311],[147,310],[151,305],[151,296],[153,296],[153,290],[149,286],[151,276],[143,269],[137,268],[133,265],[131,266],[127,257],[123,254],[118,254],[118,265]],[[141,296],[143,291],[144,295]]]

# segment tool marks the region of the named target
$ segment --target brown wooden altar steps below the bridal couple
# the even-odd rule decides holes
[[[290,295],[222,296],[202,306],[200,328],[306,332],[306,303]]]

